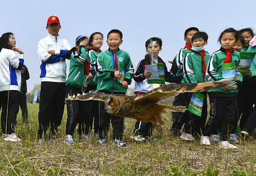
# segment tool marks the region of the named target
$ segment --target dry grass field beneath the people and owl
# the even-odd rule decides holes
[[[109,141],[99,145],[95,139],[69,146],[63,142],[67,113],[59,127],[58,140],[38,142],[38,104],[28,104],[31,127],[17,118],[16,134],[22,142],[0,139],[0,175],[255,175],[256,141],[242,141],[238,149],[218,145],[202,146],[200,141],[185,142],[169,132],[154,132],[149,142],[135,142],[134,119],[125,118],[126,147]],[[171,116],[170,113],[168,113]],[[112,132],[111,132],[112,133]],[[93,135],[93,134],[92,134]],[[112,136],[112,134],[110,134]],[[110,138],[111,139],[111,138]]]

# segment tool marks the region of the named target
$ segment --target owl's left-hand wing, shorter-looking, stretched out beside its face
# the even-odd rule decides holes
[[[80,100],[80,101],[88,101],[88,100],[99,100],[105,101],[110,95],[104,94],[102,92],[90,91],[84,95],[77,95],[76,97],[68,97],[67,100]]]

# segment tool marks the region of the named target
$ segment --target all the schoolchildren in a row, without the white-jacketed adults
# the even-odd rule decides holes
[[[249,39],[246,39],[247,33],[251,36]],[[147,93],[153,89],[153,84],[147,83],[147,78],[152,76],[151,72],[146,71],[145,65],[147,64],[163,63],[166,82],[186,84],[225,79],[222,65],[233,63],[236,80],[232,82],[232,85],[224,89],[201,92],[205,97],[201,116],[189,111],[173,113],[175,121],[170,131],[183,140],[191,141],[199,138],[202,145],[210,145],[214,142],[219,143],[222,148],[238,148],[230,143],[239,143],[238,137],[235,135],[239,115],[246,111],[243,113],[244,117],[242,116],[242,119],[245,119],[241,132],[244,137],[250,136],[251,131],[256,127],[248,123],[249,119],[252,119],[250,121],[254,120],[252,116],[256,113],[253,111],[254,99],[247,101],[249,106],[242,106],[245,104],[244,98],[252,95],[250,91],[247,91],[247,86],[243,86],[246,89],[246,95],[242,91],[239,92],[242,89],[243,79],[247,81],[249,78],[248,80],[253,82],[251,76],[254,75],[251,73],[254,72],[247,70],[245,77],[242,77],[238,67],[240,63],[239,52],[249,47],[248,43],[252,37],[253,33],[250,30],[248,32],[244,29],[244,31],[238,32],[228,28],[219,37],[221,48],[210,55],[205,50],[208,35],[205,32],[200,32],[198,28],[188,28],[184,33],[186,45],[175,57],[172,67],[173,73],[167,71],[164,61],[158,56],[162,50],[162,40],[158,37],[152,37],[145,42],[145,57],[139,61],[134,73],[130,55],[119,49],[123,42],[121,31],[114,29],[108,33],[106,42],[109,49],[103,52],[100,50],[103,45],[103,35],[100,32],[93,33],[90,38],[81,35],[76,38],[75,47],[68,52],[70,74],[66,82],[66,96],[76,96],[92,90],[105,94],[125,95],[127,86],[131,84],[132,79],[135,80],[134,93],[136,95]],[[118,78],[122,75],[124,79],[120,83]],[[210,102],[210,117],[206,122],[208,115],[207,96]],[[191,97],[193,97],[193,93],[179,94],[175,97],[174,105],[188,107]],[[245,109],[250,109],[251,114]],[[90,139],[89,134],[94,117],[94,138],[98,139],[98,144],[103,145],[107,142],[111,121],[113,144],[126,146],[123,141],[124,118],[106,113],[104,102],[67,100],[67,112],[65,137],[67,144],[73,145],[75,143],[73,135],[77,124],[79,124],[79,138]],[[241,121],[243,121],[242,119]],[[150,140],[153,130],[154,126],[151,122],[137,121],[131,138],[136,141]]]

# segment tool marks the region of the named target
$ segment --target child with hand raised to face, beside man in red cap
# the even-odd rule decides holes
[[[90,56],[86,53],[86,46],[88,46],[89,38],[85,35],[81,35],[76,38],[76,47],[72,48],[69,52],[70,57],[70,69],[69,76],[66,81],[66,97],[77,96],[77,94],[83,93],[84,83],[86,77],[92,78],[90,72]],[[79,100],[67,100],[67,113],[68,119],[66,124],[66,137],[65,143],[68,145],[74,145],[72,138],[76,125],[79,119],[82,119],[86,113],[88,106],[86,103]]]

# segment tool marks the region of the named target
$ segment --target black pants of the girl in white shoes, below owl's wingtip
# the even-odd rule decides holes
[[[228,141],[228,135],[234,125],[237,97],[209,97],[210,117],[203,129],[203,135],[220,134],[222,141]]]

